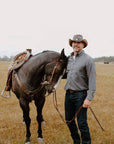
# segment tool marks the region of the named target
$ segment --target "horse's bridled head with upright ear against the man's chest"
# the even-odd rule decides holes
[[[45,86],[48,93],[51,93],[54,88],[59,84],[60,79],[62,78],[67,66],[67,57],[64,54],[64,49],[61,51],[60,56],[48,63],[45,66]]]

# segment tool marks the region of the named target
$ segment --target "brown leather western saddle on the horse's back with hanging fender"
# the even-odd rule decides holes
[[[32,56],[31,49],[26,49],[26,51],[17,54],[11,61],[8,67],[7,82],[5,86],[5,91],[10,91],[12,88],[12,74],[14,70],[18,70],[28,59]]]

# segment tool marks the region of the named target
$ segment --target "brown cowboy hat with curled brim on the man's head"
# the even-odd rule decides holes
[[[84,48],[88,45],[86,39],[83,39],[83,36],[80,34],[74,35],[73,39],[69,39],[69,45],[72,47],[72,42],[82,42],[84,43]]]

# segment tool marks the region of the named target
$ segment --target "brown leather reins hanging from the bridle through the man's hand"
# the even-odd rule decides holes
[[[78,109],[78,111],[76,112],[75,116],[70,120],[70,121],[66,121],[62,114],[60,113],[59,109],[58,109],[58,105],[57,105],[57,97],[56,97],[56,90],[54,89],[53,90],[53,104],[54,104],[54,107],[55,109],[57,110],[59,116],[61,117],[62,121],[65,123],[65,124],[70,124],[73,120],[75,120],[75,118],[78,116],[79,112],[81,111],[83,105]],[[92,114],[94,115],[94,118],[96,119],[97,123],[99,124],[100,128],[102,131],[104,131],[103,127],[101,126],[98,118],[96,117],[95,113],[93,112],[92,108],[89,107],[90,111],[92,112]]]

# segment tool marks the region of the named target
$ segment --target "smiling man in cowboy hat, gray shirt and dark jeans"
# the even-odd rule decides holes
[[[69,45],[73,48],[73,53],[68,58],[67,65],[67,82],[65,85],[65,119],[72,120],[76,112],[83,105],[83,108],[75,120],[68,123],[71,137],[74,144],[91,144],[91,137],[87,123],[87,108],[96,91],[96,70],[94,60],[84,52],[88,45],[82,35],[74,35],[69,39]],[[87,90],[88,94],[87,94]],[[81,137],[78,133],[78,128]]]

